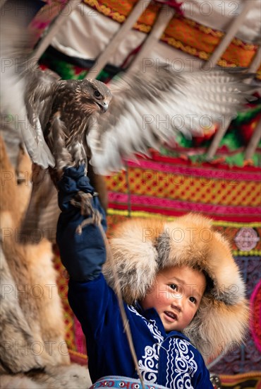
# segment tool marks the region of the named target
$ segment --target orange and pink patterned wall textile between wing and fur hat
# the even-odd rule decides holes
[[[178,216],[202,212],[214,220],[260,222],[260,168],[192,163],[161,156],[126,163],[126,171],[107,177],[109,207]]]

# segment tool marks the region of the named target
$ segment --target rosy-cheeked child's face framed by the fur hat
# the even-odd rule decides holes
[[[157,274],[141,306],[157,310],[166,332],[182,331],[194,318],[205,289],[202,272],[187,266],[169,267]]]

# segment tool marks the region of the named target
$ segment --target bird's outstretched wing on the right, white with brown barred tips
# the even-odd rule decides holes
[[[99,118],[101,148],[95,148],[95,132],[87,137],[96,173],[119,171],[123,159],[146,154],[149,146],[159,149],[177,132],[191,137],[236,117],[253,91],[243,82],[250,77],[242,69],[192,73],[158,66],[114,81],[107,115]]]

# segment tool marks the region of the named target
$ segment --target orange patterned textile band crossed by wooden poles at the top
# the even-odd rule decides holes
[[[112,18],[114,21],[124,23],[128,14],[138,0],[83,0],[88,6],[95,8],[100,13]],[[159,4],[150,4],[142,13],[137,23],[133,26],[135,30],[142,33],[150,33],[152,25],[156,20]],[[191,54],[203,60],[210,58],[210,55],[219,45],[224,33],[214,30],[205,25],[185,18],[178,13],[171,19],[161,37],[162,42],[175,47],[178,50]],[[249,66],[255,53],[257,45],[234,38],[229,47],[217,62],[220,66]],[[258,70],[258,78],[261,79],[261,65]]]

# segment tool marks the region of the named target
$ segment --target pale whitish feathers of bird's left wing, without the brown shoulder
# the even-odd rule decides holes
[[[11,116],[9,124],[23,138],[32,161],[47,168],[54,166],[54,157],[44,141],[39,120],[30,121],[25,103],[26,77],[29,73],[34,75],[26,57],[28,39],[22,21],[15,15],[1,16],[1,115]]]

